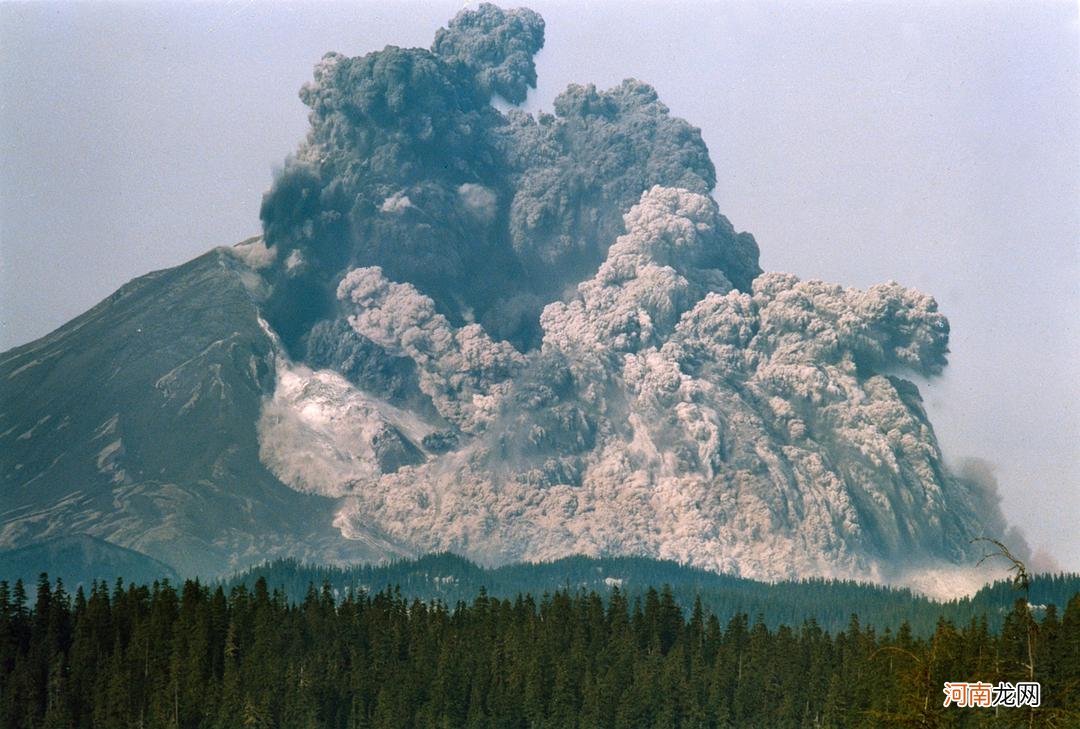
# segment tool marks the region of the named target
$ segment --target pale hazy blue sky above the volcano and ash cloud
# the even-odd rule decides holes
[[[1080,569],[1075,3],[527,3],[530,108],[637,77],[702,127],[769,270],[933,294],[946,454]],[[427,46],[460,2],[0,4],[0,349],[258,232],[325,51]]]

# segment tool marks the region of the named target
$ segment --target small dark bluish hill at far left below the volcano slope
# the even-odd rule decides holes
[[[124,582],[143,583],[178,579],[165,563],[90,535],[57,537],[0,552],[0,580],[9,584],[23,580],[29,589],[41,572],[48,572],[53,580],[62,578],[69,590],[90,585],[94,580],[112,583],[118,577]]]

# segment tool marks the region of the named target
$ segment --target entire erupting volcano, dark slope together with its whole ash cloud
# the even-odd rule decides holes
[[[892,578],[1001,534],[897,376],[945,365],[933,299],[762,273],[645,83],[498,111],[542,44],[485,4],[327,54],[261,238],[0,359],[2,543]]]

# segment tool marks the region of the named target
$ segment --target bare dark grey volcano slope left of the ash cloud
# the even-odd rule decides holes
[[[0,357],[0,544],[87,534],[202,575],[392,551],[341,540],[332,502],[259,462],[273,359],[245,279],[215,251]]]

